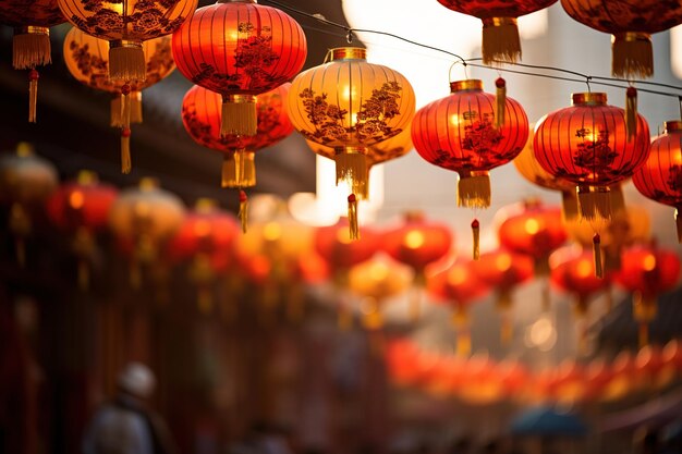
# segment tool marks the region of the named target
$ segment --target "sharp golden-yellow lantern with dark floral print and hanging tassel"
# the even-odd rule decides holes
[[[368,63],[365,49],[348,47],[330,52],[330,62],[301,73],[292,82],[289,116],[307,140],[333,148],[337,184],[350,184],[349,223],[351,237],[356,240],[357,199],[367,194],[370,147],[409,127],[415,98],[402,74]],[[328,157],[326,152],[320,156]]]

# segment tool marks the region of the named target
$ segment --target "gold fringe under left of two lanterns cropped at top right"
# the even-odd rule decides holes
[[[521,60],[521,39],[515,17],[483,20],[483,64],[515,63]]]

